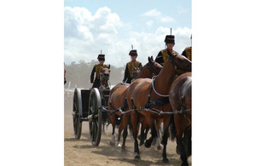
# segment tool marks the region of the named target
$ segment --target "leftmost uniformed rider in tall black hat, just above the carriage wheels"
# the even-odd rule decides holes
[[[90,83],[93,83],[92,88],[99,88],[101,86],[100,73],[102,68],[107,68],[108,66],[104,65],[105,54],[99,54],[98,58],[99,64],[95,65],[90,74]],[[96,78],[94,80],[94,73],[96,72]]]

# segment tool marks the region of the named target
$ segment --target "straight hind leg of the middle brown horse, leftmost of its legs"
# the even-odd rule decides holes
[[[133,129],[135,159],[140,159],[141,157],[140,157],[139,147],[138,147],[138,143],[137,143],[137,133],[138,133],[137,117],[138,117],[138,115],[136,112],[131,113],[131,126]]]

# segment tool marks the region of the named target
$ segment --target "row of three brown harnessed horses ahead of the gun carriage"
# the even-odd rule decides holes
[[[168,163],[168,137],[176,139],[176,152],[182,165],[188,165],[191,155],[191,61],[180,54],[169,54],[164,66],[148,57],[137,78],[131,83],[119,83],[111,89],[108,100],[109,117],[113,126],[110,144],[115,145],[115,127],[119,124],[118,146],[125,151],[127,126],[132,126],[135,158],[140,159],[138,127],[141,125],[140,145],[150,147],[163,123],[161,144],[162,161]],[[147,138],[148,128],[151,136]],[[123,131],[123,143],[120,136]],[[146,131],[146,133],[145,133]]]

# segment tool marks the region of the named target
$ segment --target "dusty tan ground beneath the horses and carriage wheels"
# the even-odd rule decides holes
[[[74,140],[73,136],[73,117],[70,112],[64,114],[64,163],[65,166],[79,165],[173,165],[180,166],[181,161],[175,152],[176,143],[168,140],[167,158],[168,164],[162,163],[162,150],[156,150],[156,146],[150,148],[140,147],[141,160],[134,159],[133,140],[128,135],[126,139],[127,152],[123,153],[119,147],[109,146],[111,135],[111,124],[106,131],[106,135],[102,135],[101,143],[98,147],[91,146],[89,125],[83,123],[82,135],[80,140]],[[116,129],[117,134],[117,129]],[[149,135],[148,135],[149,136]],[[189,165],[191,165],[191,157],[189,157]]]

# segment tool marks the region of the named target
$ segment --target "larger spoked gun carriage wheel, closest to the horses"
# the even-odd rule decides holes
[[[98,89],[91,89],[89,98],[89,128],[92,146],[99,146],[102,136],[102,106],[101,95]]]

